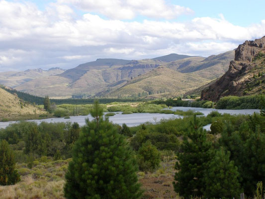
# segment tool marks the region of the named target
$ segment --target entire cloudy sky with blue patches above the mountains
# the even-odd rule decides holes
[[[0,0],[0,72],[207,57],[265,36],[265,0]]]

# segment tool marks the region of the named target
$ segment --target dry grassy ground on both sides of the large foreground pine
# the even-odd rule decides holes
[[[64,199],[64,176],[70,160],[34,161],[32,169],[25,163],[17,164],[21,181],[16,185],[0,186],[0,199]],[[142,199],[178,199],[172,184],[175,162],[164,158],[157,171],[138,173],[145,190]]]

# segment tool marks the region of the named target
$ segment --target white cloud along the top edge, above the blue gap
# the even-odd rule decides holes
[[[191,14],[188,7],[167,4],[165,0],[59,0],[88,12],[97,12],[111,19],[133,19],[137,15],[151,18],[174,19]]]

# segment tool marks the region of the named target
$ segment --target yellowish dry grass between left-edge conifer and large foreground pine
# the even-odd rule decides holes
[[[0,199],[64,199],[64,176],[70,160],[34,161],[32,169],[17,164],[21,181],[0,186]]]

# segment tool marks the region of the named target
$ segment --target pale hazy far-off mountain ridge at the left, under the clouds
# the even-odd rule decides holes
[[[58,75],[63,73],[64,71],[65,70],[60,68],[51,68],[47,71],[42,69],[32,69],[21,72],[1,72],[0,84],[13,88],[34,79],[51,76],[51,75]]]

